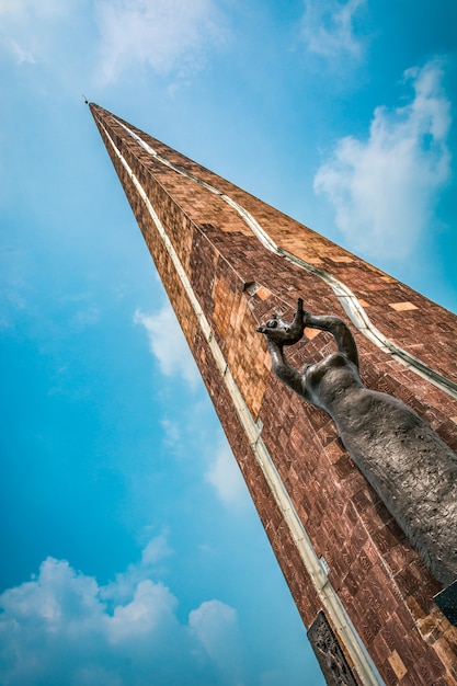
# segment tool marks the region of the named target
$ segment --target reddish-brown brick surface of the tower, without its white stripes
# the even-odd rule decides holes
[[[321,609],[311,580],[255,461],[181,281],[132,180],[113,153],[108,130],[148,193],[231,374],[273,457],[329,579],[387,684],[457,685],[457,630],[433,595],[439,591],[405,536],[344,450],[330,418],[293,395],[271,373],[256,325],[272,311],[290,315],[298,296],[313,313],[347,318],[325,283],[269,253],[220,197],[146,152],[110,113],[92,105],[106,148],[199,366],[233,454],[306,627]],[[457,380],[456,318],[276,209],[135,129],[160,155],[245,207],[284,249],[343,281],[378,329]],[[254,282],[256,287],[247,287]],[[399,304],[407,304],[404,306]],[[392,307],[395,305],[396,307]],[[414,306],[414,308],[411,307]],[[300,366],[333,350],[320,332],[290,361]],[[365,382],[392,393],[457,448],[457,403],[354,332]]]

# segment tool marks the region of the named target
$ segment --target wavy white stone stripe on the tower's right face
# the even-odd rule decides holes
[[[379,329],[377,329],[377,327],[375,327],[375,324],[370,321],[359,300],[343,282],[335,278],[329,272],[316,267],[313,264],[301,260],[301,258],[297,258],[287,250],[284,250],[283,248],[277,245],[267,235],[265,229],[263,229],[261,225],[256,221],[256,219],[254,219],[254,217],[239,203],[237,203],[230,196],[226,195],[206,181],[203,181],[198,176],[195,176],[195,174],[191,174],[184,169],[181,169],[176,164],[173,164],[165,158],[161,157],[153,148],[151,148],[151,146],[142,140],[142,138],[140,138],[137,134],[135,134],[135,132],[128,128],[128,126],[126,126],[118,119],[116,119],[116,122],[132,136],[132,138],[134,138],[147,152],[149,152],[149,155],[151,155],[159,162],[161,162],[161,164],[169,167],[182,176],[186,176],[187,179],[195,181],[210,193],[218,195],[225,203],[233,207],[233,209],[240,215],[242,220],[248,225],[248,227],[262,243],[262,245],[266,248],[266,250],[270,250],[270,252],[273,252],[284,258],[288,262],[296,264],[307,272],[316,274],[316,276],[319,276],[319,278],[324,281],[333,290],[336,298],[340,300],[342,308],[346,312],[347,317],[351,319],[354,327],[356,327],[358,331],[361,331],[361,333],[365,335],[365,338],[372,341],[372,343],[374,343],[377,347],[382,350],[388,355],[395,357],[398,362],[408,367],[408,369],[411,369],[422,378],[427,379],[427,381],[430,381],[444,392],[448,393],[449,396],[457,398],[457,384],[454,384],[454,381],[436,371],[436,369],[432,369],[432,367],[425,365],[423,362],[418,359],[418,357],[414,357],[407,351],[403,351],[400,346],[393,343],[393,341],[387,339],[384,333],[381,333]]]

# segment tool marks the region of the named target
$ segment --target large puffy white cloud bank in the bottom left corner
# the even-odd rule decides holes
[[[153,674],[157,684],[178,685],[186,674],[186,684],[235,685],[224,670],[231,648],[237,662],[236,611],[210,601],[180,622],[176,597],[150,579],[162,548],[151,541],[136,570],[107,586],[47,558],[36,579],[2,593],[0,683],[142,686]]]

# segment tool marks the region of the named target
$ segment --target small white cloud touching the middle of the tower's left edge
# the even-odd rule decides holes
[[[199,378],[198,369],[171,306],[165,305],[157,315],[136,310],[134,323],[146,329],[149,348],[158,359],[162,374],[180,375],[191,386],[195,386]]]

